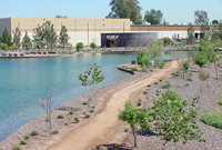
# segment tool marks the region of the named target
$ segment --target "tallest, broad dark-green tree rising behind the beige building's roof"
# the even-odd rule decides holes
[[[141,20],[141,10],[138,0],[111,0],[111,12],[105,18],[129,18],[137,23]]]

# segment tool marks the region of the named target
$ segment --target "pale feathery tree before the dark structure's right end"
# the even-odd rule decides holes
[[[157,41],[151,41],[145,54],[148,54],[150,60],[152,61],[152,60],[155,60],[158,57],[161,57],[162,49],[160,46],[158,46]]]

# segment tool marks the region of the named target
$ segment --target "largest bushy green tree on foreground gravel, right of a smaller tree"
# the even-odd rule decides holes
[[[199,99],[200,97],[194,98],[192,104],[189,106],[176,92],[168,90],[162,93],[160,100],[153,101],[150,117],[154,123],[155,132],[164,141],[163,146],[170,141],[173,141],[174,144],[180,140],[183,143],[194,139],[202,141],[201,132],[196,124],[198,112],[195,106]]]

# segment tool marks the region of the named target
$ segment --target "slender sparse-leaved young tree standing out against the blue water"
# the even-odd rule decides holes
[[[98,83],[102,82],[102,80],[105,77],[102,74],[101,64],[88,63],[84,71],[82,71],[78,74],[78,78],[80,81],[82,81],[82,86],[84,87],[84,89],[87,87],[90,87],[90,91],[91,91],[93,89],[93,87],[97,86]],[[91,98],[89,98],[88,103],[90,100],[91,100]]]

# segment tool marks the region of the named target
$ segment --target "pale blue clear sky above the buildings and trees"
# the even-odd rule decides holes
[[[210,21],[222,19],[222,0],[139,0],[142,16],[159,9],[168,22],[193,22],[194,11],[204,10]],[[0,18],[105,18],[110,0],[0,0]]]

